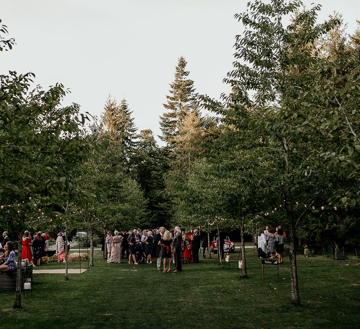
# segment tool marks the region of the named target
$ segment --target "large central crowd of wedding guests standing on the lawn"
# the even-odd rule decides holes
[[[158,271],[169,273],[172,265],[173,272],[179,272],[182,263],[199,262],[200,234],[197,229],[181,231],[179,226],[175,226],[169,230],[165,227],[154,230],[139,228],[131,232],[115,230],[114,235],[108,231],[103,242],[109,263],[120,263],[125,253],[128,264],[152,264],[152,259],[156,258]]]

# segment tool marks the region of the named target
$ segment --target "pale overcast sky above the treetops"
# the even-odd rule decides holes
[[[0,19],[15,38],[2,52],[0,73],[33,72],[43,89],[57,82],[71,90],[64,106],[78,103],[100,116],[108,95],[125,98],[139,131],[160,135],[159,116],[184,56],[196,92],[219,98],[232,69],[234,14],[248,0],[0,0]],[[304,0],[307,6],[314,1]],[[353,33],[358,0],[318,0],[319,22],[343,14]],[[159,139],[157,138],[158,142]]]

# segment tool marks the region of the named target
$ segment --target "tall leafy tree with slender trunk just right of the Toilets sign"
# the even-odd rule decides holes
[[[311,92],[317,103],[321,97],[312,83],[319,68],[314,44],[338,24],[330,19],[315,25],[320,6],[300,11],[301,5],[296,0],[273,0],[270,4],[256,0],[248,4],[248,11],[235,15],[247,29],[236,37],[234,70],[224,79],[232,86],[232,93],[223,95],[227,103],[235,101],[238,109],[251,114],[242,119],[257,132],[257,149],[262,152],[253,176],[261,179],[252,182],[262,189],[270,209],[283,205],[286,211],[284,226],[288,229],[291,299],[295,305],[300,304],[296,230],[325,190],[312,181],[314,177],[309,179],[308,171],[319,170],[321,180],[328,178],[327,168],[313,152],[319,143],[309,145],[314,134],[308,129],[307,117],[315,116],[317,110],[308,96]],[[293,18],[286,26],[283,18],[289,14]],[[226,111],[223,114],[229,115]],[[240,126],[236,121],[234,124]]]

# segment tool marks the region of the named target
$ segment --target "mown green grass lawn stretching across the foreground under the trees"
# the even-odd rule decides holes
[[[238,250],[237,250],[238,251]],[[0,328],[359,328],[360,260],[298,257],[301,307],[290,303],[288,259],[265,267],[246,250],[248,279],[217,259],[158,273],[152,265],[107,264],[100,251],[83,274],[34,274],[33,297],[0,292]],[[82,263],[87,266],[87,262]],[[52,262],[44,268],[63,268]],[[72,263],[71,268],[79,264]]]

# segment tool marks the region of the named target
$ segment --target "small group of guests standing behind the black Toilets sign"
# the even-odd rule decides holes
[[[275,232],[269,226],[266,226],[265,230],[260,228],[257,234],[259,258],[278,257],[279,264],[281,264],[285,238],[286,233],[281,226],[277,226]]]

